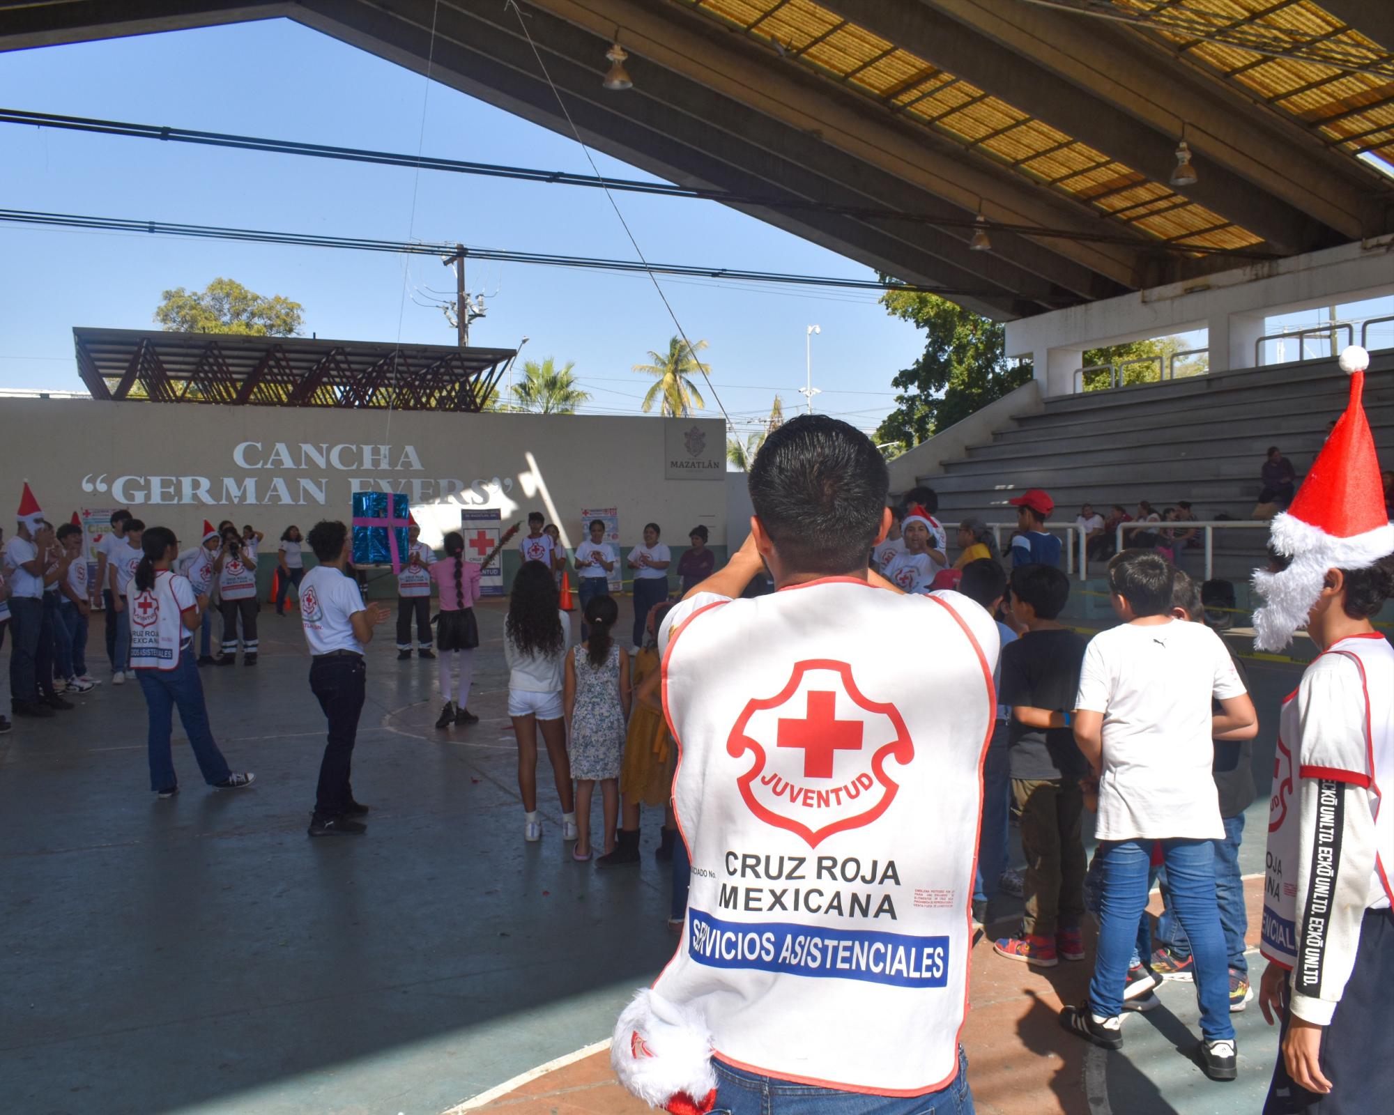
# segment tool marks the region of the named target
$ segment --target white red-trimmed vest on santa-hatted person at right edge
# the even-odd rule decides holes
[[[1376,818],[1374,878],[1370,905],[1388,906],[1394,882],[1394,824],[1383,793],[1394,786],[1394,647],[1383,636],[1344,638],[1326,654],[1342,654],[1359,666],[1365,683],[1365,769],[1370,779]],[[1299,754],[1301,723],[1298,690],[1288,694],[1278,715],[1278,743],[1273,772],[1273,800],[1269,807],[1269,847],[1264,856],[1263,938],[1260,952],[1270,960],[1294,967],[1296,963],[1299,790],[1302,771],[1312,764]],[[1310,776],[1310,775],[1309,775]],[[1342,779],[1348,780],[1348,779]],[[1383,790],[1381,790],[1383,787]]]

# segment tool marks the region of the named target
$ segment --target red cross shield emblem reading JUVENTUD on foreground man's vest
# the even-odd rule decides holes
[[[726,753],[754,758],[736,779],[750,811],[817,847],[885,813],[899,790],[887,761],[909,762],[914,744],[899,709],[864,697],[850,665],[814,659],[746,705]]]

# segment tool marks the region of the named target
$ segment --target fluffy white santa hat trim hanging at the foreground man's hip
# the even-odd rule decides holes
[[[700,1010],[641,988],[615,1023],[611,1065],[625,1090],[675,1115],[717,1102],[711,1030]]]

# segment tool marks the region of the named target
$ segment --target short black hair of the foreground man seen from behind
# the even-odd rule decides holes
[[[825,574],[866,569],[889,484],[871,439],[825,414],[803,414],[775,429],[746,481],[781,560]]]

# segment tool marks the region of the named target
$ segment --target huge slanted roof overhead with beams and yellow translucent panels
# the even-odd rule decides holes
[[[272,17],[1002,321],[1394,231],[1390,0],[0,0],[0,50]]]

